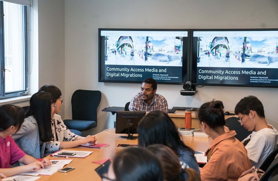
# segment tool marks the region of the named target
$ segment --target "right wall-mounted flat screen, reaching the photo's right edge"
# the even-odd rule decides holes
[[[192,85],[278,87],[278,29],[191,30]]]

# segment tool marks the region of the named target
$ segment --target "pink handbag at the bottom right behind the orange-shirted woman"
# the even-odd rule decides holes
[[[257,169],[255,166],[243,172],[237,181],[259,181],[264,175],[264,171]]]

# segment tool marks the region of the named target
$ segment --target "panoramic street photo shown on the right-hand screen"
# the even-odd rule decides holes
[[[278,68],[278,37],[200,37],[198,67]]]

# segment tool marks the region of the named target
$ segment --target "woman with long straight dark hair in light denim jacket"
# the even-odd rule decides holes
[[[45,142],[53,139],[51,114],[56,108],[55,102],[48,92],[33,94],[22,128],[12,135],[17,145],[34,158],[43,158]]]

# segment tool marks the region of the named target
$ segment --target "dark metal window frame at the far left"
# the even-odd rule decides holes
[[[19,97],[28,95],[28,22],[27,22],[27,6],[21,5],[22,8],[22,45],[23,45],[23,89],[17,91],[6,92],[5,91],[5,73],[2,72],[2,68],[5,70],[5,39],[4,39],[4,18],[0,17],[0,100],[5,98]],[[3,12],[3,1],[0,1],[0,11]]]

